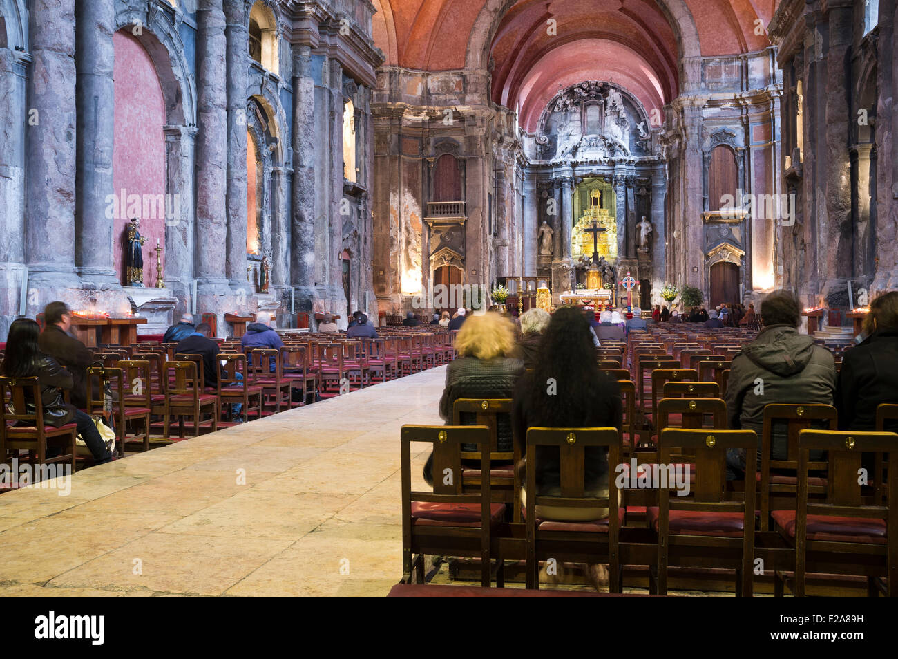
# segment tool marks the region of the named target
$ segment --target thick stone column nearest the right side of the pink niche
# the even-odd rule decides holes
[[[202,297],[226,295],[227,67],[223,0],[199,0],[197,14],[197,242]],[[217,307],[217,305],[215,305]],[[202,311],[199,309],[198,311]]]

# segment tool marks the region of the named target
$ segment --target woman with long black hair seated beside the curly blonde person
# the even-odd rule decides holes
[[[557,390],[549,392],[546,381],[553,378]],[[526,456],[528,428],[601,428],[621,429],[621,391],[617,383],[603,374],[595,361],[589,325],[572,307],[561,307],[551,316],[543,335],[542,350],[536,369],[527,372],[515,387],[515,441]],[[559,450],[539,447],[536,464],[524,463],[524,469],[536,470],[535,494],[561,494]],[[585,450],[585,495],[608,496],[608,455],[603,449]],[[525,477],[522,482],[526,483]],[[522,491],[522,505],[526,497]],[[608,516],[605,507],[562,508],[538,506],[537,517],[557,521],[592,521]],[[607,580],[607,571],[590,565],[589,574],[599,587]]]

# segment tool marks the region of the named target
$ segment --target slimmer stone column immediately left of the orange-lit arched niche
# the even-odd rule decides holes
[[[246,80],[250,67],[250,3],[225,0],[227,28],[226,272],[233,289],[246,289]]]

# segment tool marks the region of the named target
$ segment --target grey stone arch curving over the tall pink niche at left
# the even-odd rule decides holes
[[[165,113],[169,126],[197,125],[197,89],[190,72],[184,44],[174,19],[180,10],[155,7],[147,12],[145,2],[132,0],[119,9],[115,31],[128,29],[149,53],[163,87]],[[139,30],[137,29],[137,26]],[[135,32],[138,32],[135,34]]]

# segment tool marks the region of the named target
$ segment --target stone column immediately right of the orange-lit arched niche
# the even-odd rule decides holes
[[[293,217],[290,232],[290,282],[315,283],[315,81],[312,48],[293,48]]]

